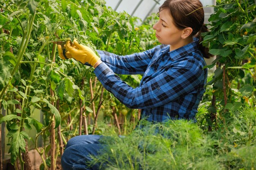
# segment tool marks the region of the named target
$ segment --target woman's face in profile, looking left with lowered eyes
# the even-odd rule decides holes
[[[176,46],[180,47],[182,30],[177,29],[173,24],[173,18],[168,9],[159,12],[159,20],[154,24],[153,29],[156,30],[155,36],[161,44],[170,45],[170,50],[174,50]]]

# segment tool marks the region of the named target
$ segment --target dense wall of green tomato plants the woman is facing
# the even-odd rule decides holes
[[[41,168],[54,169],[66,139],[101,133],[95,130],[97,115],[101,107],[105,107],[101,111],[105,115],[111,110],[103,101],[112,98],[90,67],[73,59],[60,60],[56,44],[76,38],[94,50],[138,52],[145,47],[141,47],[134,29],[136,19],[91,0],[1,0],[0,8],[0,99],[7,110],[0,123],[4,122],[9,131],[6,137],[10,139],[11,163],[19,159],[22,169],[24,161],[31,168],[29,157],[21,155],[28,152],[29,135],[24,130],[34,126]],[[41,110],[43,121],[31,117],[32,108]],[[43,148],[37,146],[40,136]]]

